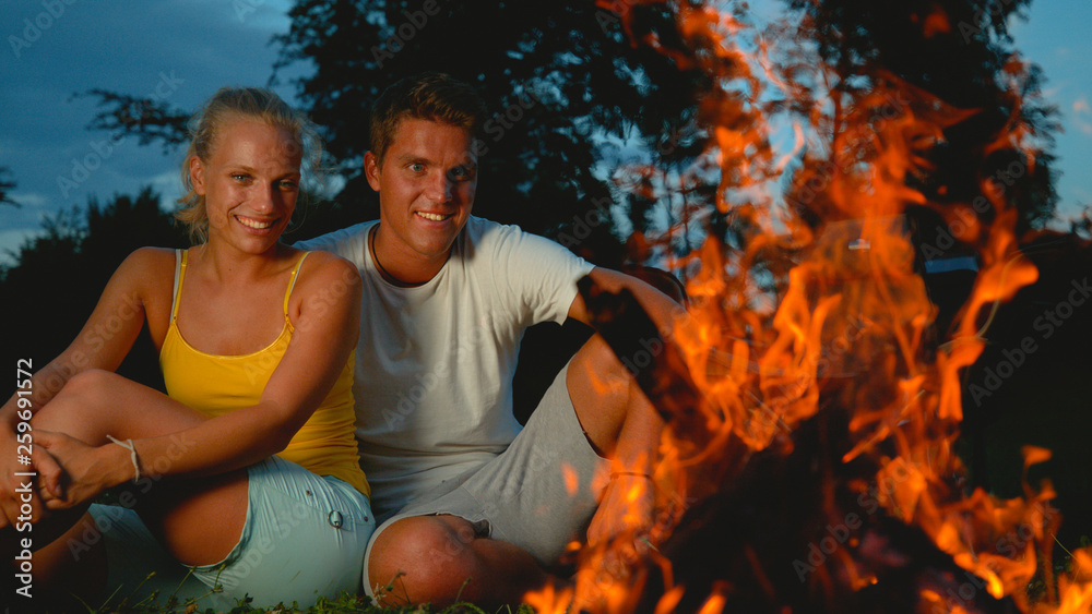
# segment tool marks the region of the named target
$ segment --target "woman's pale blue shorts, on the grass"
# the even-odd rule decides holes
[[[175,594],[197,599],[202,609],[228,610],[246,594],[256,606],[298,601],[307,607],[319,597],[358,593],[364,549],[376,527],[368,497],[278,456],[249,467],[247,475],[242,534],[213,565],[182,565],[133,510],[93,505],[92,517],[106,541],[109,590],[120,586],[118,597],[126,597],[158,589],[161,604]],[[156,577],[145,580],[153,570]],[[216,586],[223,592],[213,592]]]

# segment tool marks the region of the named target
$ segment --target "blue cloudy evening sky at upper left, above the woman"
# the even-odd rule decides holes
[[[135,194],[149,183],[165,201],[177,197],[180,153],[164,156],[158,145],[139,147],[131,139],[114,142],[88,132],[102,109],[94,98],[72,94],[102,88],[156,96],[189,111],[218,87],[263,85],[276,58],[270,38],[287,29],[290,4],[66,1],[58,4],[64,13],[16,55],[8,35],[21,36],[12,27],[24,17],[34,22],[43,4],[0,0],[0,14],[8,17],[0,50],[7,56],[0,59],[0,167],[10,169],[8,177],[23,191],[13,197],[24,204],[19,214],[0,209],[0,226],[36,226],[43,212],[85,206],[91,195],[104,201]],[[276,89],[290,99],[290,85]]]

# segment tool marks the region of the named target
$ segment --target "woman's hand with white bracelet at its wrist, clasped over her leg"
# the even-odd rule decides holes
[[[36,431],[34,443],[60,463],[58,489],[41,489],[47,509],[68,509],[93,501],[106,489],[135,475],[129,450],[115,445],[88,446],[63,433]]]

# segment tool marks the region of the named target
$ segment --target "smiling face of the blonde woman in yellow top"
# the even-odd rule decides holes
[[[292,132],[239,118],[224,124],[209,159],[190,158],[193,191],[204,197],[209,242],[246,253],[276,244],[296,208],[300,147]]]

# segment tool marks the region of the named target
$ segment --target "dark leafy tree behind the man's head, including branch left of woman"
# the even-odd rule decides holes
[[[299,238],[377,217],[360,172],[370,105],[395,80],[438,70],[479,86],[494,113],[479,146],[475,213],[541,233],[568,229],[573,249],[619,258],[618,240],[606,232],[610,216],[600,215],[617,196],[610,182],[617,162],[604,160],[603,144],[664,157],[658,145],[692,120],[692,92],[702,84],[670,57],[634,44],[675,45],[675,4],[602,4],[296,2],[289,32],[274,38],[276,71],[295,62],[314,67],[296,81],[298,97],[323,129],[331,166],[346,179],[332,206],[308,212]],[[182,140],[185,113],[124,94],[88,94],[105,107],[90,128],[142,144]],[[677,145],[669,155],[681,155]]]

